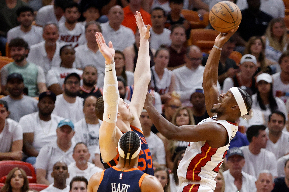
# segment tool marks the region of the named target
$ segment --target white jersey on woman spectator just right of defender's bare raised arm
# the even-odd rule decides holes
[[[151,72],[153,72],[153,74],[151,74],[151,89],[155,90],[160,95],[168,93],[169,92],[169,86],[171,84],[171,79],[172,79],[172,71],[165,68],[164,69],[165,72],[162,75],[162,79],[160,79],[158,77],[157,72],[155,72],[155,66],[152,66],[151,69],[152,69]],[[155,77],[156,82],[154,82],[153,76]],[[156,84],[158,90],[156,90],[155,84]]]

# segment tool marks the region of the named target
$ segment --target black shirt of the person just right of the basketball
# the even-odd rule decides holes
[[[245,9],[241,13],[242,21],[238,32],[245,41],[248,41],[252,36],[264,35],[269,22],[273,19],[273,17],[262,11],[259,11],[256,16],[249,9]]]

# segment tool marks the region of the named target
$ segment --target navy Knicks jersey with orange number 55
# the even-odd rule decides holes
[[[142,133],[142,131],[138,129],[137,127],[131,125],[131,129],[135,133],[137,133],[138,136],[141,138],[142,153],[138,157],[138,169],[143,171],[144,173],[148,173],[149,175],[154,176],[155,174],[154,174],[154,167],[152,165],[151,151],[148,148],[148,143],[145,140],[145,136]],[[101,162],[103,163],[104,168],[107,169],[107,168],[117,165],[118,158],[119,158],[119,154],[117,154],[117,156],[113,158],[113,160],[111,160],[110,162],[103,163],[102,160]],[[100,155],[100,159],[101,159],[101,155]]]

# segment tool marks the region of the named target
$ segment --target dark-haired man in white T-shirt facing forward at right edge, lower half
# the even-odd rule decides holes
[[[266,150],[274,153],[276,159],[289,153],[289,133],[283,131],[285,122],[285,115],[281,111],[274,111],[269,116]]]

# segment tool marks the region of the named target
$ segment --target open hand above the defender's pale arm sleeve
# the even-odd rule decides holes
[[[106,45],[105,40],[103,38],[103,35],[99,32],[96,32],[96,42],[99,48],[99,51],[105,58],[105,63],[106,64],[112,64],[114,62],[114,55],[115,51],[112,46],[112,42],[108,42],[109,47]]]

